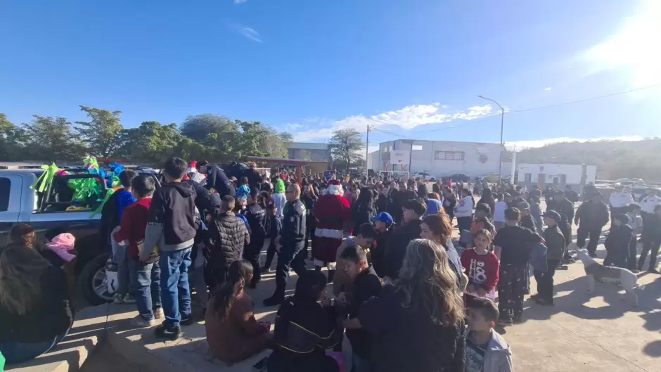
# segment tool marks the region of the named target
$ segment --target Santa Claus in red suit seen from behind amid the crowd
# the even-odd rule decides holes
[[[317,270],[328,264],[328,282],[333,281],[335,255],[342,244],[344,227],[351,221],[351,207],[343,193],[340,181],[331,179],[314,205],[317,223],[312,240],[312,258]]]

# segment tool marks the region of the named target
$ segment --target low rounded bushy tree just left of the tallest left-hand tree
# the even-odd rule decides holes
[[[32,115],[29,124],[23,124],[27,153],[21,160],[81,160],[86,155],[83,144],[72,131],[65,117]]]

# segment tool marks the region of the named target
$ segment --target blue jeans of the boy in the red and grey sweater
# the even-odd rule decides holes
[[[138,312],[146,321],[154,319],[154,310],[160,309],[160,266],[158,262],[146,264],[129,257],[131,294],[136,299]]]

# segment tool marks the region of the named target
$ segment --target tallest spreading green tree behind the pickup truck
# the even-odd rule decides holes
[[[89,108],[81,105],[80,110],[90,118],[89,122],[75,122],[81,139],[94,156],[108,158],[122,146],[122,124],[120,124],[121,111],[108,111],[98,108]]]

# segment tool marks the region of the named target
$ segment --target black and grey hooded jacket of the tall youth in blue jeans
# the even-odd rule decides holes
[[[163,243],[166,245],[195,238],[195,198],[192,182],[163,184],[154,192],[147,223],[163,226]]]

